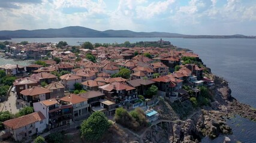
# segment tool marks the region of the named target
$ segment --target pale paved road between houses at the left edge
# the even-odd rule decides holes
[[[12,114],[19,112],[20,107],[16,107],[16,93],[10,92],[8,100],[1,104],[0,111],[10,111]]]

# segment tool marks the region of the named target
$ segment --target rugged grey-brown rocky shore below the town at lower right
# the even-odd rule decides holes
[[[218,76],[213,76],[215,87],[211,89],[214,101],[211,106],[197,110],[188,119],[173,122],[161,122],[147,130],[143,142],[201,142],[204,136],[214,139],[220,134],[231,134],[232,129],[226,120],[239,115],[250,120],[256,120],[256,110],[242,104],[231,96],[228,82]],[[223,142],[230,142],[225,137]]]

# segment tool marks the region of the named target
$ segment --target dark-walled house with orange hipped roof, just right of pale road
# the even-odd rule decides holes
[[[28,106],[32,106],[34,102],[50,99],[50,90],[40,86],[25,89],[20,94],[22,100],[25,101],[25,105]]]

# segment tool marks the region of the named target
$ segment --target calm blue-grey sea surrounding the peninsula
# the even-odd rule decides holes
[[[52,42],[66,41],[69,45],[91,43],[131,43],[140,41],[159,41],[160,38],[14,38],[11,42]],[[180,48],[188,48],[200,56],[213,74],[224,77],[231,88],[231,95],[245,104],[256,108],[256,39],[186,39],[162,38]],[[0,58],[0,64],[16,63],[26,66],[31,61],[14,61]],[[233,135],[227,135],[231,142],[256,142],[256,122],[243,117],[228,120]],[[223,142],[224,136],[202,142]]]

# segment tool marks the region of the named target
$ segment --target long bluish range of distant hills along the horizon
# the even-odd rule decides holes
[[[167,32],[132,32],[130,30],[106,30],[98,31],[80,26],[70,26],[61,29],[38,29],[38,30],[2,30],[1,39],[8,38],[110,38],[110,37],[131,37],[131,38],[256,38],[245,35],[182,35]]]

